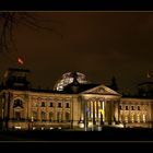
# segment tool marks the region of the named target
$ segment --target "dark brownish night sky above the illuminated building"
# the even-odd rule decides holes
[[[35,12],[34,12],[35,13]],[[39,12],[50,19],[54,32],[19,26],[17,51],[24,57],[34,86],[52,87],[69,71],[84,73],[95,83],[110,84],[115,75],[120,90],[134,91],[153,75],[153,12]],[[56,32],[62,35],[58,35]],[[0,75],[16,63],[0,55]]]

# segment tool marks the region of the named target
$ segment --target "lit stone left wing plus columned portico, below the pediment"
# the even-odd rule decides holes
[[[118,105],[118,95],[3,90],[0,118],[3,129],[81,128],[85,120],[86,127],[102,126],[119,120]]]

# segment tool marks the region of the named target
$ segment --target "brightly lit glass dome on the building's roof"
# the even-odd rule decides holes
[[[63,87],[72,83],[74,78],[80,84],[89,84],[90,81],[86,80],[86,76],[80,72],[67,72],[62,74],[61,79],[57,81],[54,86],[55,91],[63,91]]]

